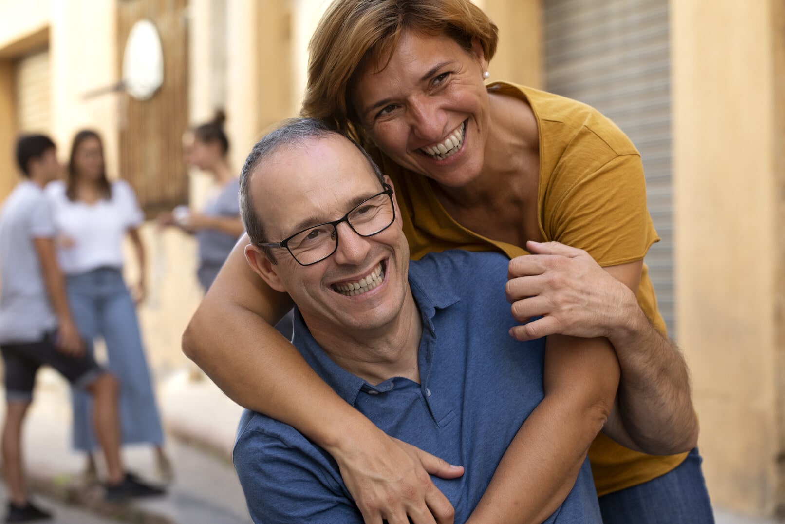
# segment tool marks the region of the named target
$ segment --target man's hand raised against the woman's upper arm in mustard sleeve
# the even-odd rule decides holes
[[[513,317],[523,324],[509,330],[515,339],[610,337],[630,308],[638,307],[630,288],[586,251],[558,242],[528,242],[526,247],[531,255],[509,262],[505,288]]]

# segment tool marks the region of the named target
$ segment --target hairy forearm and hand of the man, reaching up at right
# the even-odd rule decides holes
[[[633,292],[642,262],[602,268],[586,251],[557,242],[527,248],[532,255],[510,262],[507,298],[517,321],[542,319],[510,334],[606,337],[619,358],[619,415],[630,437],[646,453],[694,448],[698,423],[684,358],[648,321]]]

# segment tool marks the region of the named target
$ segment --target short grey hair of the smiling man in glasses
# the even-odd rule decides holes
[[[378,166],[374,162],[374,159],[368,155],[365,149],[361,148],[360,145],[358,145],[355,141],[352,141],[345,134],[341,133],[341,131],[337,130],[333,126],[330,126],[329,123],[320,119],[308,118],[283,120],[276,130],[266,134],[265,137],[262,137],[262,139],[254,145],[254,148],[251,149],[248,158],[246,158],[246,161],[243,164],[243,170],[240,171],[240,216],[243,218],[243,225],[245,226],[246,233],[248,233],[251,243],[260,244],[262,242],[276,241],[265,239],[264,225],[262,224],[262,221],[256,212],[253,199],[251,198],[250,179],[254,175],[254,172],[257,170],[259,165],[264,162],[265,159],[268,159],[270,156],[272,156],[272,154],[275,153],[279,148],[289,147],[292,145],[303,145],[309,139],[327,138],[333,134],[344,137],[346,140],[349,140],[352,142],[352,144],[356,145],[356,147],[360,149],[360,152],[363,153],[363,156],[365,156],[368,163],[371,165],[371,168],[374,170],[374,174],[376,174],[376,177],[379,179],[379,181],[384,182],[382,171],[379,170]],[[316,180],[314,181],[314,183],[317,182],[318,181]],[[270,262],[273,264],[277,263],[276,257],[273,255],[271,248],[262,247],[261,249],[265,252],[265,255],[267,255],[267,258],[269,258]]]

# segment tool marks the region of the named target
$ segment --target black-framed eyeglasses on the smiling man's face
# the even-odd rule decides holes
[[[286,247],[294,260],[301,266],[321,262],[338,249],[338,224],[346,222],[360,236],[382,233],[395,222],[395,207],[392,205],[392,188],[382,184],[384,191],[371,196],[352,207],[352,211],[334,222],[312,225],[274,243],[259,243],[259,247]]]

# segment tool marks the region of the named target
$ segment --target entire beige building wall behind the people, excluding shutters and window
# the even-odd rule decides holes
[[[190,120],[209,119],[217,105],[227,110],[236,170],[265,127],[297,112],[305,85],[305,46],[325,3],[225,0],[227,61],[219,67],[210,46],[217,31],[211,24],[213,4],[192,0]],[[541,85],[539,2],[476,3],[502,35],[491,79]],[[716,504],[763,515],[772,515],[783,500],[778,459],[785,451],[780,3],[670,5],[680,343],[692,368],[710,494]],[[30,35],[46,35],[53,134],[61,156],[76,129],[93,126],[104,134],[108,167],[116,174],[121,97],[82,98],[117,80],[114,9],[114,2],[93,0],[0,0],[0,140],[5,137],[7,143],[15,132],[3,111],[13,104],[9,55],[3,53],[13,52]],[[214,82],[217,71],[225,71],[223,91]],[[0,152],[0,164],[8,161],[7,152]],[[193,173],[195,205],[207,189],[209,180]],[[186,365],[180,335],[201,298],[195,246],[189,236],[161,233],[150,224],[144,225],[143,236],[150,284],[140,310],[144,339],[154,367],[167,372]],[[137,269],[133,263],[127,269],[133,279]]]

